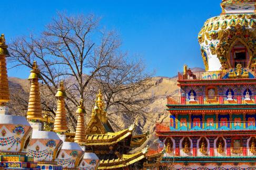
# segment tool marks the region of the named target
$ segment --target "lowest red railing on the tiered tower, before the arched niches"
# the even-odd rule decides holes
[[[163,154],[164,157],[233,157],[256,156],[256,148],[171,148]]]

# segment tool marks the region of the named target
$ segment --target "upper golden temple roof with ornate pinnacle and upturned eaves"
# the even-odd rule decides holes
[[[81,143],[84,146],[108,146],[113,145],[130,137],[131,147],[141,146],[147,139],[148,133],[140,135],[132,135],[135,123],[129,128],[114,132],[107,117],[107,112],[104,110],[103,94],[99,91],[96,95],[95,107],[92,109],[92,118],[85,130],[85,142]]]

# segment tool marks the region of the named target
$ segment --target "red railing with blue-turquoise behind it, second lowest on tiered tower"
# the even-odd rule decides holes
[[[163,122],[156,123],[156,133],[164,132],[202,132],[202,131],[255,131],[256,121],[223,122]],[[207,132],[206,132],[207,133]],[[213,132],[214,133],[214,132]]]

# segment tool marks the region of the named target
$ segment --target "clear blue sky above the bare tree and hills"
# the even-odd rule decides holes
[[[206,19],[221,13],[220,0],[52,0],[1,2],[1,27],[7,39],[40,33],[57,11],[95,14],[101,26],[116,30],[123,50],[141,56],[155,76],[172,77],[189,67],[204,67],[198,33]],[[27,78],[27,68],[9,69],[9,77]]]

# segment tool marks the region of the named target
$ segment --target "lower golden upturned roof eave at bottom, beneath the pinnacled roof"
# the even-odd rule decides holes
[[[114,160],[102,160],[98,169],[115,169],[132,165],[135,162],[141,161],[143,158],[145,158],[147,148],[148,147],[145,147],[142,149],[142,151],[134,154],[119,155],[119,158]]]

